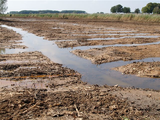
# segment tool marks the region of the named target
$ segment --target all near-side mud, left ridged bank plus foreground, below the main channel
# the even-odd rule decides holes
[[[0,89],[2,120],[159,117],[158,91],[88,85],[81,81],[79,73],[53,63],[40,52],[0,57],[1,80],[32,83],[26,86],[15,83]],[[37,82],[41,82],[43,88],[38,87]]]

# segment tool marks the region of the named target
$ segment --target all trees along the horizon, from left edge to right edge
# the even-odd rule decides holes
[[[7,10],[7,0],[0,0],[0,14],[3,14]],[[112,13],[130,13],[130,7],[123,7],[118,4],[116,6],[111,7],[110,11]],[[136,8],[134,13],[153,13],[160,14],[160,3],[148,3],[144,6],[141,11],[139,8]],[[52,11],[52,10],[22,10],[22,11],[11,11],[10,14],[47,14],[47,13],[76,13],[76,14],[86,14],[86,11],[82,10],[62,10],[62,11]],[[103,12],[99,13],[103,14]]]

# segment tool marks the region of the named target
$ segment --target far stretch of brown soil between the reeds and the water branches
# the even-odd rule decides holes
[[[138,34],[141,36],[142,33],[144,34],[142,36],[159,36],[160,34],[160,27],[157,24],[150,25],[148,23],[143,25],[128,22],[99,22],[92,20],[8,19],[12,20],[12,22],[2,23],[22,28],[28,32],[36,34],[37,36],[42,36],[47,40],[83,41],[84,39],[91,38],[120,38],[124,36],[135,36]],[[141,41],[141,39],[139,41]],[[145,42],[147,43],[149,41],[144,40],[142,43]]]

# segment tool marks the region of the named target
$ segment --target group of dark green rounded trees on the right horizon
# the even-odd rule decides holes
[[[111,7],[110,11],[112,13],[130,13],[130,7],[123,7],[118,4],[116,6]],[[160,14],[160,3],[148,3],[145,7],[142,8],[142,13],[153,13]],[[140,9],[136,8],[134,13],[140,13]]]

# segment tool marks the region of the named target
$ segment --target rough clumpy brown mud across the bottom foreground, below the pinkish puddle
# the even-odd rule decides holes
[[[1,119],[159,119],[160,92],[51,78],[46,89],[0,89]],[[139,93],[139,94],[137,94]]]

